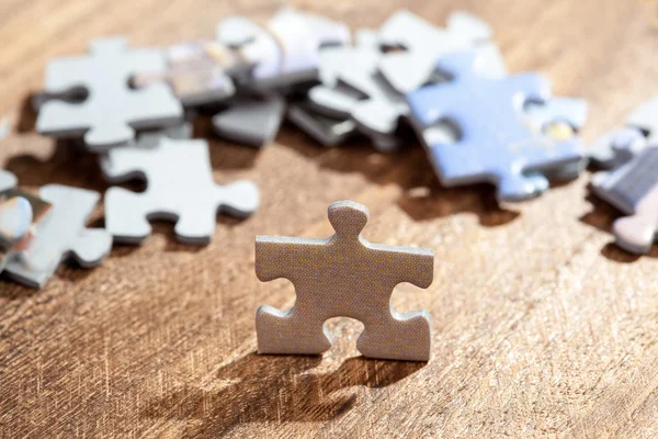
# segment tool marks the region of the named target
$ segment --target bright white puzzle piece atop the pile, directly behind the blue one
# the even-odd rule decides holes
[[[396,90],[409,93],[427,82],[441,56],[474,49],[491,36],[491,27],[467,12],[453,12],[447,29],[441,29],[399,10],[384,23],[377,38],[385,46],[404,49],[382,58],[378,67]]]

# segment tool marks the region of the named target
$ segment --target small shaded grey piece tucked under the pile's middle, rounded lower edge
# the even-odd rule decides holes
[[[213,116],[213,126],[219,137],[263,146],[276,137],[284,114],[285,101],[279,95],[241,98]]]

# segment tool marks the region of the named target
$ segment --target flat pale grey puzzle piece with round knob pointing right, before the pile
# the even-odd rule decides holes
[[[147,182],[143,193],[116,187],[105,193],[106,227],[118,241],[139,244],[151,233],[149,219],[168,219],[177,223],[179,240],[207,244],[217,212],[243,217],[259,205],[251,181],[215,183],[205,140],[147,136],[135,146],[107,151],[101,168],[111,182]]]

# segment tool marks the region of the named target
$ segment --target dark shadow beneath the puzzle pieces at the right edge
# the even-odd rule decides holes
[[[611,240],[614,240],[614,237],[612,235],[612,225],[615,219],[624,216],[624,214],[622,214],[620,211],[614,209],[605,201],[600,200],[592,193],[589,193],[586,200],[592,204],[593,209],[578,219],[581,223],[598,228],[599,230],[605,232],[610,235]],[[621,249],[614,244],[614,241],[611,241],[603,246],[603,248],[601,249],[601,255],[615,262],[631,263],[635,262],[643,256],[647,256],[649,258],[658,258],[658,245],[654,245],[651,247],[651,250],[646,255],[634,255]]]

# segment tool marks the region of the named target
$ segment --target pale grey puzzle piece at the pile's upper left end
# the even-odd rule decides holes
[[[84,88],[87,99],[70,103],[49,99],[41,105],[41,134],[83,135],[92,150],[134,139],[135,128],[158,127],[182,119],[183,109],[166,83],[131,89],[136,72],[161,74],[164,58],[157,49],[128,49],[125,38],[99,38],[89,56],[59,58],[46,70],[46,93],[66,95]]]

